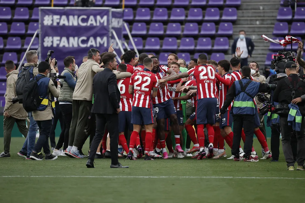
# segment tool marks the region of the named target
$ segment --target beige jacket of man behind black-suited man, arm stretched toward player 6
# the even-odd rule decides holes
[[[73,93],[74,100],[87,100],[92,101],[93,95],[93,77],[96,73],[103,71],[104,68],[100,68],[99,64],[93,59],[88,59],[88,61],[81,64],[78,68],[77,82]],[[117,79],[124,77],[131,77],[131,73],[120,73],[114,71]]]

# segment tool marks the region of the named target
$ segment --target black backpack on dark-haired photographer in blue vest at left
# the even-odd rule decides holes
[[[41,104],[43,98],[39,97],[38,83],[45,76],[34,77],[33,80],[28,82],[23,89],[23,109],[27,112],[37,110],[38,106]]]

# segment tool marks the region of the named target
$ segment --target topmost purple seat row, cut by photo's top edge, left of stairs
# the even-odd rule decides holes
[[[30,6],[48,6],[51,5],[51,0],[0,0],[0,5],[13,6],[13,5]],[[191,6],[240,6],[241,0],[192,0]],[[54,6],[73,6],[74,0],[54,0]],[[95,0],[95,5],[97,6],[119,6],[121,5],[120,0]],[[189,5],[188,0],[125,0],[125,6],[181,6],[187,7]]]

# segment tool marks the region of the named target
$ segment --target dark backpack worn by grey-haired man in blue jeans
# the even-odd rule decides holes
[[[23,102],[23,89],[31,79],[29,70],[32,68],[34,68],[34,66],[30,66],[28,69],[22,67],[20,73],[18,73],[18,78],[16,80],[16,95],[20,104]]]

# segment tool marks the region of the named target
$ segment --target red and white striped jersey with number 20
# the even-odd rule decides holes
[[[212,66],[199,65],[188,70],[189,76],[194,76],[197,83],[197,99],[217,98],[215,70]]]

